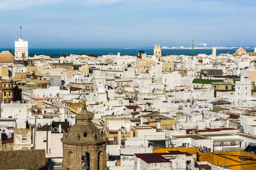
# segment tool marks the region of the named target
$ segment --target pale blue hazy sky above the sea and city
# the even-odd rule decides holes
[[[0,48],[256,46],[255,0],[0,0]]]

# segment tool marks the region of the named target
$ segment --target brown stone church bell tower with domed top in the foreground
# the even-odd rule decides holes
[[[63,134],[62,170],[104,170],[106,167],[107,139],[92,123],[92,114],[84,105],[76,116],[77,124]]]

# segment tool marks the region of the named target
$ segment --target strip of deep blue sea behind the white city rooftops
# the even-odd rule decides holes
[[[0,52],[8,50],[8,48],[0,48]],[[113,53],[116,55],[120,52],[121,55],[138,55],[138,52],[144,51],[147,55],[153,55],[153,48],[29,48],[29,56],[34,55],[51,55],[52,57],[60,57],[62,53],[86,55],[94,54],[95,56],[108,55]],[[230,53],[233,54],[237,49],[217,49],[217,54]],[[12,49],[14,52],[14,49]],[[246,48],[246,52],[253,52],[253,48]],[[195,49],[194,55],[211,54],[211,49]],[[162,55],[191,55],[191,49],[162,49]]]

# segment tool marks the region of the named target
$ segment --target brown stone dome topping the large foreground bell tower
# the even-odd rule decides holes
[[[77,123],[70,127],[67,134],[63,134],[62,143],[70,145],[99,145],[106,143],[107,139],[102,136],[99,129],[92,123],[92,113],[86,110],[84,105],[76,116]]]

